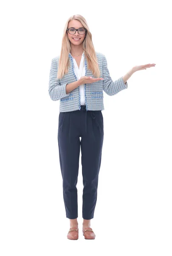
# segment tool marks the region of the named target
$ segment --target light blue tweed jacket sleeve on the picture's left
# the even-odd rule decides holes
[[[50,68],[50,76],[49,76],[49,89],[48,93],[52,100],[59,100],[64,98],[65,96],[70,95],[70,93],[66,93],[66,84],[60,84],[59,79],[56,78],[57,76],[57,64],[55,58],[51,61],[51,68]]]

